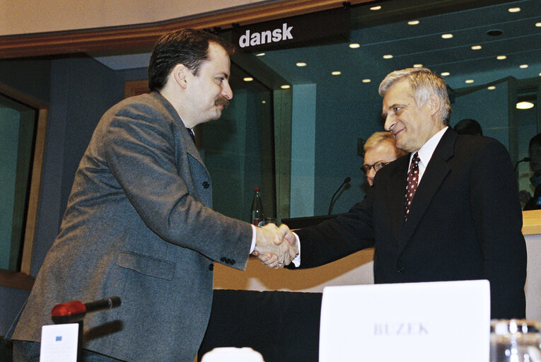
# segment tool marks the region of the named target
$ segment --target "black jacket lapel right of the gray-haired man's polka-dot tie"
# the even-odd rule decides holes
[[[434,198],[434,194],[438,192],[441,183],[445,180],[450,172],[450,167],[447,160],[453,156],[453,146],[456,140],[455,132],[448,129],[441,138],[438,146],[434,150],[429,164],[426,166],[421,182],[417,187],[413,198],[412,206],[410,206],[407,222],[400,233],[400,247],[403,249],[409,238],[417,228],[417,224],[426,213],[429,205]],[[403,210],[403,207],[402,207]],[[402,215],[403,218],[403,215]]]

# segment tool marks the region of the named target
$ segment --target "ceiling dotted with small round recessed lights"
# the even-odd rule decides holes
[[[373,6],[381,6],[373,11]],[[510,12],[509,8],[520,8]],[[292,84],[320,83],[341,71],[354,81],[377,82],[395,69],[414,64],[449,72],[453,88],[533,78],[541,73],[541,1],[440,0],[376,1],[354,6],[349,42],[266,52],[261,62]],[[418,20],[417,25],[408,21]],[[537,24],[537,26],[536,26]],[[499,30],[500,35],[489,35]],[[441,35],[452,34],[450,39]],[[356,42],[359,48],[351,49]],[[480,45],[482,49],[471,49]],[[383,55],[392,54],[392,59]],[[150,54],[91,54],[111,69],[146,67]],[[496,59],[505,55],[506,59]],[[306,62],[303,67],[297,62]],[[527,68],[520,65],[527,64]],[[234,76],[234,74],[233,74]]]

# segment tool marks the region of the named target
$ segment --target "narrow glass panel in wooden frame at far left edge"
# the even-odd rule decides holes
[[[36,124],[37,110],[0,95],[0,269],[21,267]]]

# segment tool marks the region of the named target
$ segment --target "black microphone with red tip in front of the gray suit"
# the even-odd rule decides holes
[[[81,322],[86,313],[98,312],[120,307],[120,297],[110,297],[95,300],[90,303],[82,303],[79,300],[54,305],[51,310],[51,318],[54,324]]]

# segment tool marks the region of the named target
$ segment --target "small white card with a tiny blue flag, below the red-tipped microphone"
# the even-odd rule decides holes
[[[77,323],[44,325],[40,362],[77,362],[78,328]]]

